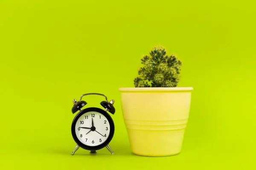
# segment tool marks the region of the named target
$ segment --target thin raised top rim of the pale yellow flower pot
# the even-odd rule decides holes
[[[172,88],[119,88],[119,91],[126,92],[126,91],[192,91],[192,87],[172,87]]]

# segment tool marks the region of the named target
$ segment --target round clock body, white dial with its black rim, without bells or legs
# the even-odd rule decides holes
[[[111,116],[100,108],[86,108],[73,120],[71,132],[75,142],[86,150],[99,150],[113,138]]]

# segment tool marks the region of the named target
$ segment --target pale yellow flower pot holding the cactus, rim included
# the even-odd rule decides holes
[[[131,151],[140,156],[180,153],[192,87],[119,88]]]

